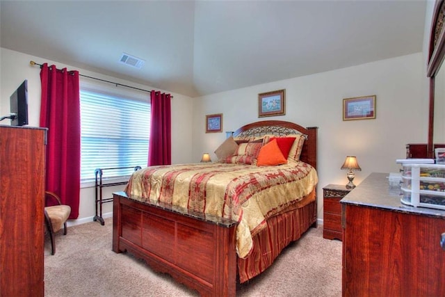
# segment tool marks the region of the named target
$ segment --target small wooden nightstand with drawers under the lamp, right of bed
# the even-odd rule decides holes
[[[342,240],[340,200],[351,190],[343,184],[328,184],[323,188],[323,238]]]

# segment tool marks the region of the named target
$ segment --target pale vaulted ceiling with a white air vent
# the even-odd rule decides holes
[[[0,13],[3,48],[197,97],[420,52],[426,1],[1,0]]]

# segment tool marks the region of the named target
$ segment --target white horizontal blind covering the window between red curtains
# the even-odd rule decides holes
[[[81,183],[95,181],[96,168],[147,166],[150,104],[103,91],[81,90]],[[104,179],[133,169],[106,170]]]

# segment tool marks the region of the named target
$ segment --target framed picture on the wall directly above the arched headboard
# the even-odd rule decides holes
[[[286,113],[286,90],[258,94],[258,117],[284,115]]]

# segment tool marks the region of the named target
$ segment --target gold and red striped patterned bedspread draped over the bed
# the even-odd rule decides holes
[[[303,162],[261,167],[197,163],[138,170],[125,192],[142,202],[163,202],[237,221],[236,252],[244,258],[266,219],[302,200],[317,182],[316,170]]]

